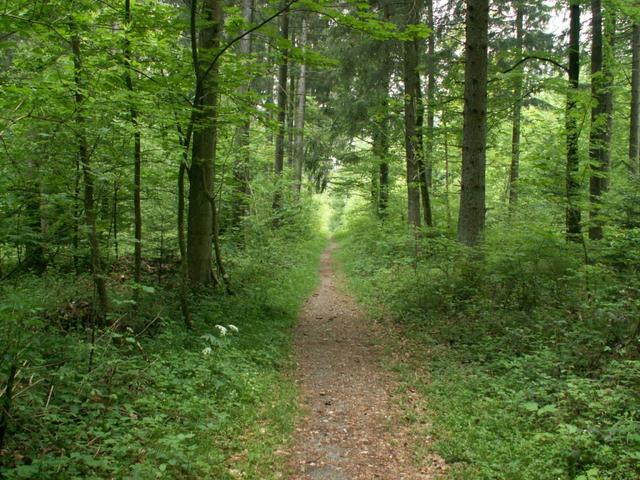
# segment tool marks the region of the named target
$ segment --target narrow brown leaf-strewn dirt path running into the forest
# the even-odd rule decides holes
[[[291,480],[414,480],[418,470],[407,429],[393,404],[394,380],[380,367],[376,327],[342,291],[331,243],[322,255],[320,286],[300,314],[295,334],[305,412],[290,458]]]

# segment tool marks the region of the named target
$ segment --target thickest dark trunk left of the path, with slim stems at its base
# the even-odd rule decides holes
[[[192,287],[210,283],[215,223],[214,165],[217,135],[218,69],[211,65],[222,29],[222,3],[204,0],[200,12],[206,26],[196,33],[197,1],[191,6],[191,42],[196,76],[192,112],[193,150],[189,169],[187,264]]]

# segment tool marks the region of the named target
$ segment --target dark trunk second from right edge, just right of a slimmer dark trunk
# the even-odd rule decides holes
[[[602,1],[592,0],[593,44],[591,51],[591,133],[589,137],[589,238],[600,240],[604,222],[601,216],[602,194],[608,189],[611,160],[612,72],[610,68],[613,39],[612,16],[607,12],[607,32],[603,37]]]

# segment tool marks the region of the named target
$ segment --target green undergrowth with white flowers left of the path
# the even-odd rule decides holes
[[[157,315],[143,324],[97,332],[56,311],[76,279],[5,286],[0,385],[9,364],[18,374],[0,477],[280,478],[292,327],[324,244],[294,235],[230,255],[234,295],[199,300],[193,331],[172,285],[145,293]]]

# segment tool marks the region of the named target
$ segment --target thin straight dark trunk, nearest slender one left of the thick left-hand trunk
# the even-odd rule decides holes
[[[131,0],[124,2],[124,21],[126,29],[131,28]],[[138,123],[138,109],[133,99],[133,78],[131,76],[131,41],[128,32],[124,40],[125,83],[129,91],[129,116],[133,127],[133,224],[135,243],[133,247],[133,280],[136,283],[135,299],[138,299],[141,265],[142,265],[142,205],[140,202],[140,166],[142,161],[142,147],[140,141],[140,125]]]

